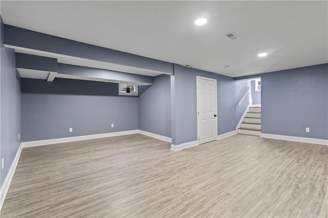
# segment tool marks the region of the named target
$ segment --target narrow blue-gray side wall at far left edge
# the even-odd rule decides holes
[[[20,145],[18,134],[21,132],[20,121],[20,84],[15,69],[15,52],[4,47],[4,23],[1,19],[1,159],[4,158],[4,169],[1,169],[1,186],[3,185],[11,164]],[[1,162],[0,159],[0,162]]]

